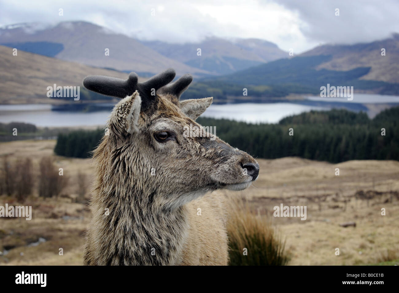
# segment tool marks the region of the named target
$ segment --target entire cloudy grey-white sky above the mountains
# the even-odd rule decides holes
[[[398,0],[0,0],[0,8],[2,26],[85,20],[142,40],[260,38],[297,53],[399,32]]]

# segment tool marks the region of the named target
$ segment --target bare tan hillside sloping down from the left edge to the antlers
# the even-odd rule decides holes
[[[56,58],[0,46],[0,104],[58,103],[46,96],[47,87],[80,86],[87,75],[109,75],[126,79],[127,73],[90,67]],[[142,78],[140,78],[143,80]],[[104,98],[104,96],[103,96]],[[108,98],[105,98],[108,99]],[[111,99],[111,98],[110,98]]]

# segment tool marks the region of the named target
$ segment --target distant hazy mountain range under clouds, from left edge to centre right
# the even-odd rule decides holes
[[[48,57],[150,76],[172,67],[178,75],[222,75],[285,58],[259,39],[206,38],[199,43],[144,42],[89,22],[25,23],[0,28],[0,45]],[[105,55],[105,49],[109,55]],[[201,55],[197,49],[201,48]]]

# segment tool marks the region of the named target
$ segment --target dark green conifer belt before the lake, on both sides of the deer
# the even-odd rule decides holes
[[[257,158],[300,156],[334,163],[399,160],[399,107],[382,111],[374,119],[363,112],[333,109],[292,115],[278,124],[206,117],[200,117],[198,123],[216,127],[218,137]],[[55,153],[78,158],[90,156],[102,136],[102,130],[60,135]]]

